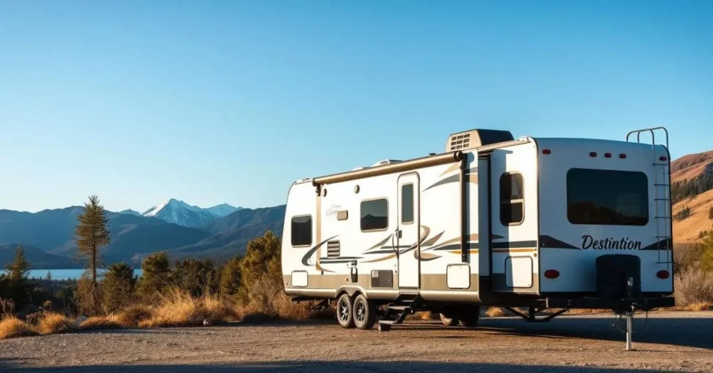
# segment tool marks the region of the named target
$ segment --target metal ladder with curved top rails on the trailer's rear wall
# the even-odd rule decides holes
[[[663,130],[666,138],[666,151],[668,155],[666,159],[656,156],[656,130]],[[671,155],[669,151],[669,136],[668,131],[664,127],[643,128],[640,130],[627,133],[626,140],[629,142],[629,137],[636,134],[636,142],[641,143],[641,133],[651,133],[651,150],[653,156],[654,167],[654,205],[655,205],[655,220],[656,220],[656,248],[657,248],[657,263],[665,264],[667,270],[671,271],[673,260],[672,245],[672,204],[671,204]],[[633,139],[632,139],[633,141]],[[660,177],[659,175],[663,176]],[[665,258],[662,260],[661,252],[664,252]]]

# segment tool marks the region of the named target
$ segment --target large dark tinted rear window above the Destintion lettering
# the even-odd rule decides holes
[[[645,173],[573,168],[567,173],[567,218],[573,224],[646,225]]]

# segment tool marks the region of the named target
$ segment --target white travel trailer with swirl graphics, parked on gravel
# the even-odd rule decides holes
[[[443,153],[298,180],[284,291],[336,301],[342,327],[381,330],[421,310],[473,326],[490,305],[529,321],[548,308],[563,310],[544,320],[669,307],[669,170],[665,128],[621,141],[474,129]]]

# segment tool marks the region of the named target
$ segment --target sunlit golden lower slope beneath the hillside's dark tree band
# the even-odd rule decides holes
[[[673,221],[673,240],[677,243],[698,242],[700,231],[713,230],[713,220],[708,218],[708,210],[713,206],[713,190],[673,205],[673,215],[676,216],[686,206],[691,209],[691,215],[684,220]]]

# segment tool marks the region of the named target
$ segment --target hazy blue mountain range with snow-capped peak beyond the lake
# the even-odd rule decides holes
[[[73,260],[77,249],[73,233],[82,210],[80,206],[38,213],[0,210],[0,264],[11,260],[15,247],[22,245],[35,269],[81,267]],[[284,205],[200,208],[172,198],[144,213],[123,210],[106,215],[111,243],[102,249],[105,264],[123,261],[139,266],[143,257],[161,250],[174,259],[227,260],[244,252],[247,242],[266,230],[282,235]]]

